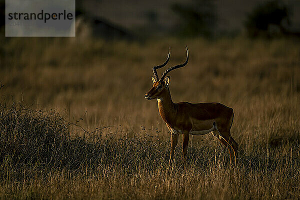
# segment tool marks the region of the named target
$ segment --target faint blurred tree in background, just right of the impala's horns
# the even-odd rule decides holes
[[[213,36],[217,20],[214,0],[194,0],[188,5],[174,3],[171,10],[181,19],[176,26],[179,35]]]

